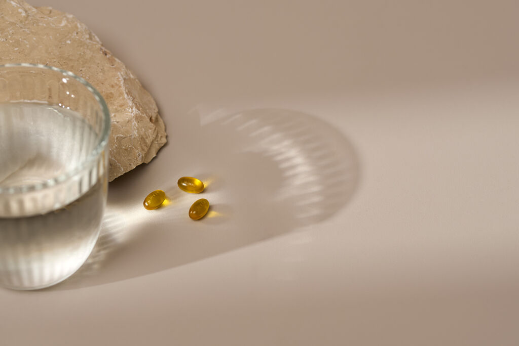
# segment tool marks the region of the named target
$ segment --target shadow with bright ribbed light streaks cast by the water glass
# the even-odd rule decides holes
[[[218,111],[188,121],[189,131],[170,138],[168,149],[176,150],[110,184],[98,244],[75,275],[49,290],[139,277],[321,222],[347,204],[358,184],[351,143],[306,113]],[[176,180],[189,175],[207,185],[203,196],[177,188]],[[160,186],[167,205],[142,208],[143,196]],[[202,197],[211,208],[193,222],[187,211]]]

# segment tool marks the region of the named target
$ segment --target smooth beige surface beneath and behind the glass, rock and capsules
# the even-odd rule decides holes
[[[170,141],[111,183],[83,269],[0,291],[3,344],[519,343],[517,2],[121,4],[33,1],[128,64]]]

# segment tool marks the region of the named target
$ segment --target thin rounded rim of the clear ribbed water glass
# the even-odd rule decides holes
[[[56,71],[58,73],[61,73],[63,76],[72,77],[75,80],[77,80],[79,83],[83,84],[88,91],[92,93],[95,100],[97,100],[99,106],[101,107],[101,111],[103,113],[103,128],[101,130],[101,133],[99,134],[99,139],[97,141],[97,144],[95,145],[94,149],[90,151],[88,156],[85,158],[85,160],[81,161],[80,164],[78,164],[76,167],[67,170],[63,172],[62,174],[47,179],[44,182],[38,182],[34,184],[25,184],[25,185],[19,185],[19,186],[10,186],[9,188],[2,188],[0,186],[0,195],[11,195],[11,194],[19,194],[19,193],[25,193],[30,191],[36,191],[36,190],[44,190],[51,188],[52,186],[58,185],[75,175],[77,175],[80,171],[87,168],[87,166],[94,161],[99,154],[103,151],[105,146],[108,143],[108,135],[110,135],[110,125],[111,125],[111,118],[110,118],[110,111],[108,111],[108,106],[106,105],[106,102],[103,98],[103,96],[95,89],[92,84],[87,82],[84,78],[77,76],[76,74],[72,73],[71,71],[64,70],[62,68],[53,67],[49,65],[44,64],[32,64],[32,63],[17,63],[17,64],[3,64],[0,65],[0,69],[4,68],[13,68],[13,67],[31,67],[31,68],[40,68],[43,70],[51,70]]]

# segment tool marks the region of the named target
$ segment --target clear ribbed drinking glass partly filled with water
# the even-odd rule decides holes
[[[99,236],[110,114],[83,78],[0,65],[0,285],[34,290],[71,276]]]

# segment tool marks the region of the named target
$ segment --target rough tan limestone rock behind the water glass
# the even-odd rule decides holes
[[[22,62],[72,71],[103,95],[112,116],[110,180],[151,161],[166,143],[153,97],[85,24],[50,7],[0,0],[0,64]]]

